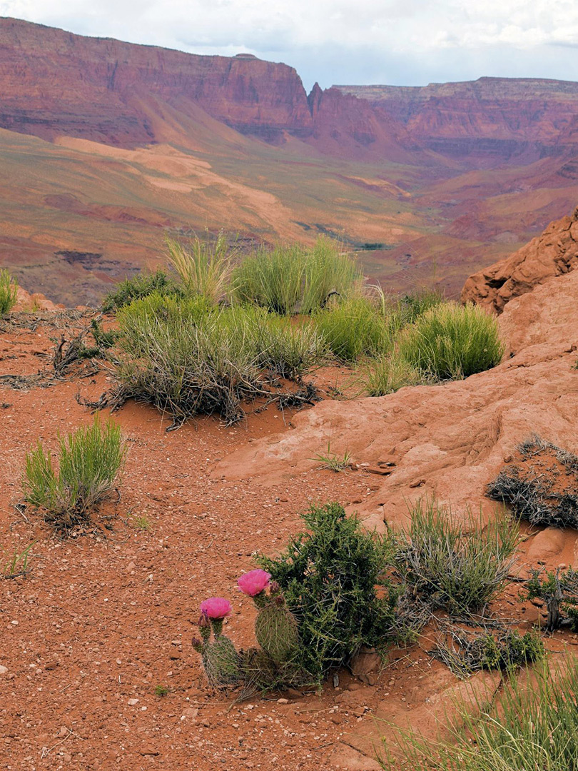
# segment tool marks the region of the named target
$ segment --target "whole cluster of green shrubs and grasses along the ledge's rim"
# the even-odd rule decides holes
[[[358,367],[365,392],[383,396],[467,377],[502,355],[483,311],[431,290],[388,297],[328,237],[244,255],[223,233],[166,247],[174,278],[124,281],[103,308],[119,321],[120,401],[152,402],[177,423],[210,412],[233,423],[242,402],[271,395],[271,377],[300,382],[323,362]]]

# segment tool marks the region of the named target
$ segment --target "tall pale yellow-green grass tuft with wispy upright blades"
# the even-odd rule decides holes
[[[169,261],[180,276],[183,289],[190,296],[200,295],[217,303],[227,293],[234,256],[227,237],[221,231],[211,240],[195,235],[185,247],[173,238],[166,239]]]

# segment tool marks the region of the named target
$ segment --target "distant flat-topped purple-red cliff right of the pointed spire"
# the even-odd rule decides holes
[[[578,83],[480,78],[423,87],[335,86],[402,123],[415,141],[454,158],[526,162],[576,150]]]

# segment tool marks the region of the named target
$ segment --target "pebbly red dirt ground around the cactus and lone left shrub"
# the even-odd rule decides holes
[[[5,324],[0,375],[47,366],[51,336],[58,337],[51,325]],[[339,378],[348,373],[324,372],[321,380],[327,386]],[[447,671],[424,654],[431,647],[424,640],[392,651],[369,683],[341,672],[337,689],[330,682],[323,692],[254,697],[232,707],[232,697],[207,692],[190,645],[200,601],[229,597],[227,635],[250,645],[254,610],[235,586],[254,567],[251,554],[281,550],[311,502],[362,503],[376,489],[375,476],[319,469],[267,487],[251,478],[223,482],[212,476],[219,460],[261,436],[290,431],[287,413],[284,420],[269,406],[234,428],[205,418],[166,433],[169,420],[129,403],[114,416],[130,448],[118,500],[102,507],[93,532],[61,540],[34,511],[15,508],[25,451],[36,439],[53,447],[57,432],[88,423],[75,395],[97,398],[106,375],[46,388],[5,385],[0,378],[0,544],[8,551],[33,545],[29,574],[0,580],[2,769],[328,771],[336,767],[335,747],[341,740],[355,746],[351,736],[371,730],[371,711],[384,699],[411,710],[424,689],[431,695],[447,685]],[[539,611],[520,606],[518,591],[513,584],[500,610],[534,621]],[[156,686],[166,695],[156,695]],[[345,767],[376,767],[355,752],[351,758]]]

